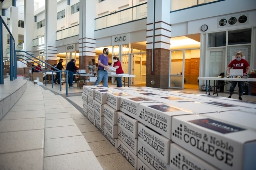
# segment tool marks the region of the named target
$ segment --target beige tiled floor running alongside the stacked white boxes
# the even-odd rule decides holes
[[[0,169],[134,169],[81,113],[83,89],[68,89],[66,96],[65,87],[60,92],[58,85],[52,89],[51,84],[45,88],[28,81],[25,93],[0,121]],[[243,99],[256,102],[256,96]]]

